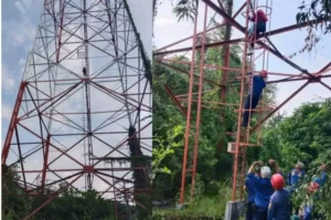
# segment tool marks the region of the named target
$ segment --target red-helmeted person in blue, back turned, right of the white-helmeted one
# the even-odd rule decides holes
[[[285,180],[281,175],[276,174],[271,177],[271,185],[276,190],[269,202],[268,220],[290,220],[290,191],[284,188]]]

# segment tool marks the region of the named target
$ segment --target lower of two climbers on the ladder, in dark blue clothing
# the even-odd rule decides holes
[[[248,73],[248,75],[252,75],[252,73]],[[268,76],[267,71],[261,71],[258,75],[254,75],[252,78],[252,91],[246,97],[245,102],[245,112],[243,116],[243,127],[247,127],[249,115],[252,116],[252,109],[255,109],[258,105],[258,102],[260,99],[261,93],[264,88],[266,87],[266,77]],[[252,104],[252,105],[250,105]]]

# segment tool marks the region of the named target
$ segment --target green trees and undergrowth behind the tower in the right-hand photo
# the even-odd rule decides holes
[[[225,9],[232,11],[232,1],[223,1]],[[177,1],[174,6],[174,14],[179,20],[192,20],[194,10],[192,6],[195,1]],[[189,6],[184,9],[185,6]],[[301,22],[301,21],[298,21]],[[218,29],[207,38],[217,40],[228,39],[231,29]],[[224,49],[223,49],[224,50]],[[223,50],[209,49],[206,62],[209,64],[223,65]],[[231,67],[242,66],[241,56],[236,46],[231,46]],[[173,56],[172,60],[188,61],[184,56]],[[196,59],[200,63],[200,54]],[[153,77],[153,135],[160,142],[153,144],[153,150],[161,150],[164,154],[157,154],[154,161],[159,167],[166,168],[166,171],[154,174],[153,178],[153,199],[158,201],[168,201],[172,203],[172,208],[153,208],[154,219],[223,219],[225,211],[225,202],[231,196],[231,174],[233,158],[226,153],[226,144],[234,139],[225,136],[226,132],[234,132],[236,126],[235,106],[222,107],[216,104],[207,105],[203,108],[200,126],[200,144],[199,144],[199,164],[197,164],[197,184],[195,197],[190,198],[191,178],[188,176],[185,201],[189,202],[182,210],[174,209],[179,201],[179,191],[181,185],[183,143],[184,139],[185,116],[173,104],[172,99],[166,93],[164,87],[168,86],[173,94],[186,94],[189,88],[189,77],[171,69],[164,67],[162,64],[156,64]],[[175,69],[189,72],[190,66],[185,64],[172,64]],[[199,73],[199,67],[195,73]],[[222,81],[222,71],[205,70],[205,78],[214,82]],[[228,72],[228,78],[236,75]],[[203,91],[203,99],[209,102],[221,102],[220,87],[205,83]],[[206,92],[209,91],[209,92]],[[264,102],[274,103],[275,86],[268,85],[264,94]],[[193,91],[197,92],[196,90]],[[227,87],[227,103],[239,103],[238,86],[232,84]],[[183,107],[186,103],[181,102]],[[247,163],[254,160],[267,161],[274,158],[279,164],[281,171],[287,175],[295,166],[297,160],[306,164],[306,184],[293,195],[295,206],[300,206],[307,201],[307,184],[311,181],[317,174],[317,167],[320,164],[331,161],[331,108],[330,99],[316,103],[306,103],[297,108],[291,116],[282,114],[275,115],[263,127],[261,143],[263,147],[249,148],[247,150]],[[193,104],[193,109],[196,106]],[[196,112],[193,111],[193,118]],[[222,116],[223,115],[223,116]],[[252,119],[252,124],[256,124],[258,114]],[[194,124],[194,122],[193,122]],[[173,130],[178,129],[175,137]],[[252,136],[250,143],[256,143],[256,134]],[[193,138],[190,139],[191,149],[190,158],[192,159]],[[220,147],[221,146],[221,147]],[[168,148],[169,147],[169,148]],[[158,159],[161,158],[161,159]],[[190,165],[191,160],[189,161]],[[330,178],[323,188],[317,192],[318,200],[314,201],[314,210],[321,211],[327,219],[330,216],[330,202],[328,197],[331,196]]]

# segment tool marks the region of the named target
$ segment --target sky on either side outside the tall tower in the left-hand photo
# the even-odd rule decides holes
[[[137,29],[141,35],[148,56],[152,54],[152,4],[151,0],[128,1]],[[32,49],[39,19],[41,0],[14,0],[2,3],[2,138],[7,135],[14,101],[17,98],[23,66]],[[145,11],[141,13],[141,11]]]

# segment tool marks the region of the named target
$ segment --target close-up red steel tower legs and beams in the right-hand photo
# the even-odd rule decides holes
[[[171,99],[174,102],[174,104],[180,108],[180,111],[186,116],[186,133],[185,133],[185,143],[184,143],[184,156],[183,156],[183,170],[182,170],[182,185],[181,185],[181,193],[180,193],[180,203],[184,202],[184,192],[185,192],[185,180],[186,180],[186,175],[188,172],[192,174],[192,185],[191,185],[191,196],[194,196],[194,182],[195,182],[195,175],[196,175],[196,158],[197,158],[197,151],[199,151],[199,124],[200,124],[200,112],[201,112],[201,107],[209,107],[210,104],[217,104],[217,105],[223,105],[223,106],[228,106],[228,107],[236,107],[236,112],[238,113],[237,115],[237,125],[242,124],[242,115],[244,112],[244,105],[243,105],[243,101],[245,98],[245,91],[246,88],[246,80],[247,78],[247,71],[246,71],[246,66],[249,65],[247,63],[246,60],[246,55],[243,55],[243,60],[242,60],[242,67],[237,69],[237,67],[229,67],[228,66],[228,60],[229,60],[229,50],[228,50],[228,45],[234,45],[234,44],[242,44],[242,49],[243,49],[243,54],[246,54],[246,50],[247,50],[247,44],[249,43],[247,41],[247,28],[248,28],[248,17],[245,15],[248,13],[249,10],[252,10],[252,4],[250,1],[247,0],[239,9],[236,13],[234,13],[233,17],[228,15],[225,10],[224,7],[222,6],[222,3],[218,1],[218,6],[216,3],[214,3],[212,0],[202,0],[202,2],[205,3],[205,11],[204,14],[201,14],[201,17],[204,18],[204,23],[205,23],[205,19],[206,19],[206,13],[207,13],[207,9],[212,9],[214,12],[216,12],[217,14],[220,14],[224,21],[222,24],[217,24],[213,28],[207,29],[205,25],[203,27],[203,31],[202,32],[196,32],[196,21],[197,21],[197,17],[195,18],[194,21],[194,31],[193,31],[193,35],[182,39],[180,41],[177,41],[174,43],[171,43],[167,46],[163,46],[159,50],[157,50],[154,52],[154,56],[156,60],[159,64],[171,69],[173,71],[177,71],[179,73],[182,74],[186,74],[190,77],[190,85],[189,85],[189,93],[188,94],[179,94],[175,95],[171,92],[170,86],[166,85],[166,92],[169,94],[169,96],[171,97]],[[268,8],[268,7],[266,7]],[[243,15],[245,15],[245,24],[242,25],[241,23],[238,23],[235,19],[236,17],[243,13]],[[306,22],[302,25],[298,27],[297,24],[292,24],[289,27],[285,27],[285,28],[280,28],[277,30],[273,30],[273,31],[268,31],[265,33],[265,35],[267,36],[271,36],[271,35],[276,35],[276,34],[281,34],[288,31],[292,31],[292,30],[297,30],[299,28],[302,27],[308,27],[309,24],[317,24],[322,22],[322,20],[313,20],[311,22]],[[224,27],[225,24],[231,24],[232,27],[234,27],[235,29],[237,29],[239,32],[242,32],[244,35],[244,38],[241,39],[231,39],[228,41],[213,41],[213,42],[205,42],[205,35],[209,31],[215,30],[220,27]],[[246,28],[245,28],[246,27]],[[203,39],[201,44],[196,44],[196,39]],[[186,48],[179,48],[179,49],[173,49],[173,50],[168,50],[171,46],[174,46],[177,44],[180,44],[184,41],[188,40],[193,40],[193,44],[192,46],[186,46]],[[234,135],[236,136],[236,140],[235,143],[233,143],[233,147],[232,150],[229,150],[233,155],[234,155],[234,171],[233,171],[233,193],[232,193],[232,200],[235,201],[237,199],[242,199],[243,198],[243,186],[244,186],[244,177],[245,177],[245,157],[246,157],[246,148],[248,146],[258,146],[258,144],[252,144],[249,143],[249,135],[253,134],[254,132],[257,132],[259,129],[259,127],[261,126],[263,123],[265,123],[268,118],[270,118],[280,107],[282,107],[285,104],[287,104],[292,97],[295,97],[300,91],[302,91],[308,84],[310,83],[319,83],[322,86],[331,90],[331,86],[329,86],[328,84],[325,84],[322,80],[327,78],[327,77],[331,77],[331,74],[327,74],[328,72],[331,71],[331,63],[329,63],[327,66],[324,66],[323,69],[321,69],[321,71],[317,72],[317,73],[309,73],[306,70],[300,69],[299,66],[297,66],[296,64],[293,64],[291,61],[289,61],[288,59],[284,57],[275,48],[271,48],[268,45],[268,43],[265,42],[265,40],[260,40],[260,41],[256,41],[256,44],[263,50],[261,54],[268,52],[277,57],[279,57],[280,60],[282,60],[284,62],[288,63],[291,66],[296,66],[297,70],[299,70],[301,73],[300,74],[290,74],[290,73],[275,73],[271,71],[268,71],[269,75],[277,75],[281,78],[277,80],[277,81],[268,81],[267,84],[275,84],[275,83],[285,83],[285,82],[295,82],[295,81],[306,81],[306,83],[300,86],[297,91],[295,91],[288,98],[286,98],[282,103],[280,103],[278,106],[266,106],[265,104],[263,104],[263,106],[257,107],[257,112],[260,112],[259,115],[261,116],[259,122],[250,129],[246,132],[242,130],[241,126],[237,126],[237,130],[236,133],[229,133],[229,135]],[[270,43],[271,44],[271,43]],[[206,52],[207,49],[211,48],[220,48],[220,46],[226,46],[227,50],[225,50],[226,55],[224,56],[223,60],[223,66],[218,66],[218,65],[212,65],[212,64],[207,64],[204,62],[201,62],[200,64],[195,63],[196,61],[194,60],[194,54],[196,52],[201,53],[201,57],[203,57],[203,54]],[[167,55],[182,55],[183,53],[188,53],[188,52],[192,52],[192,59],[189,62],[183,62],[183,61],[179,61],[179,60],[174,60],[174,59],[167,59],[164,56]],[[261,56],[264,55],[256,55],[256,59],[253,61],[255,62],[257,59],[261,59]],[[203,59],[202,59],[203,60]],[[186,64],[191,66],[190,72],[186,72],[184,70],[180,70],[179,67],[175,67],[173,64],[175,63],[181,63],[181,64]],[[211,81],[206,77],[203,76],[204,72],[206,70],[215,70],[222,71],[222,80],[221,82],[214,82]],[[197,72],[200,71],[200,73],[197,74]],[[228,78],[228,73],[237,73],[236,76],[234,78]],[[255,71],[255,72],[259,72],[259,71]],[[199,82],[195,82],[197,78],[200,78]],[[235,80],[239,81],[239,82],[234,82]],[[202,98],[202,93],[207,93],[209,91],[203,91],[203,90],[199,90],[199,92],[193,93],[192,87],[193,86],[199,86],[199,88],[202,87],[202,84],[204,85],[209,85],[209,86],[213,86],[213,87],[220,87],[221,90],[221,97],[222,97],[222,103],[211,103],[207,101],[203,101]],[[226,97],[226,93],[229,92],[231,90],[234,88],[238,88],[239,85],[239,103],[228,103],[226,102],[225,97]],[[194,96],[196,96],[196,98],[194,99]],[[196,115],[192,115],[192,103],[195,103],[195,105],[197,106],[196,108]],[[197,103],[197,104],[196,104]],[[184,106],[186,105],[186,106]],[[195,117],[196,122],[192,123],[192,117]],[[245,135],[243,135],[245,133]],[[228,133],[227,133],[228,135]],[[244,138],[243,138],[244,136]],[[190,139],[193,140],[194,138],[194,146],[190,145]],[[222,143],[222,140],[220,140]],[[218,143],[220,144],[220,143]],[[215,145],[217,145],[217,143],[215,143]],[[193,157],[190,158],[189,155],[192,155]],[[188,164],[192,163],[192,165]],[[191,167],[192,166],[192,167]]]

